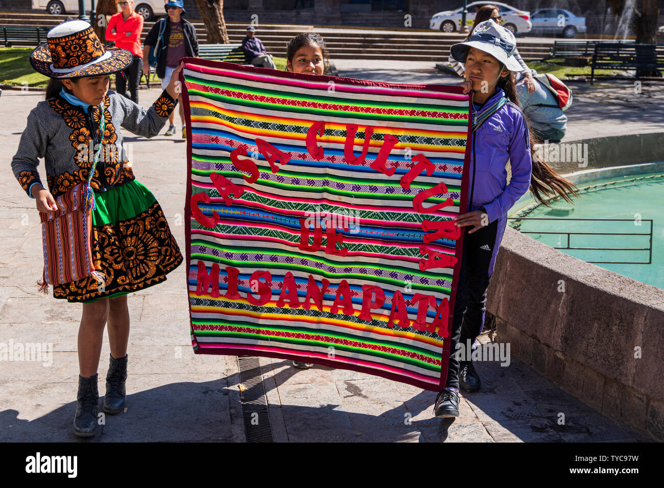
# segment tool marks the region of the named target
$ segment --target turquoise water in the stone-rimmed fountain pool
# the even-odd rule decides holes
[[[540,205],[527,214],[521,211],[514,215],[556,220],[508,220],[509,225],[570,256],[596,262],[607,270],[664,289],[664,174],[630,175],[577,186],[581,193],[573,204],[558,199],[550,203],[551,208]],[[602,220],[576,220],[583,218]],[[652,246],[649,243],[651,224]],[[594,235],[568,236],[564,232]],[[608,250],[564,249],[567,247]],[[650,247],[651,258],[650,251],[635,250]],[[627,248],[629,250],[625,250]],[[651,264],[637,264],[649,260]]]

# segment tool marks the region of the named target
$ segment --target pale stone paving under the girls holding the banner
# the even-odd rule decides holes
[[[398,76],[411,82],[408,76],[414,71],[407,68]],[[344,72],[341,66],[339,70],[341,74],[351,71]],[[360,74],[353,73],[351,76]],[[157,89],[139,94],[143,106],[158,95]],[[42,99],[41,92],[11,90],[0,98],[0,157],[4,161],[0,168],[0,344],[50,344],[52,364],[0,361],[0,442],[76,439],[72,421],[81,305],[38,293],[35,282],[42,271],[39,217],[35,202],[23,193],[9,165],[27,115]],[[137,179],[159,200],[185,252],[185,140],[180,135],[147,140],[127,131],[124,134],[133,143]],[[43,167],[41,174],[45,181]],[[91,442],[243,442],[236,358],[193,355],[184,266],[163,284],[129,295],[129,312],[127,410],[107,416],[100,435]],[[108,356],[105,338],[99,369],[102,395]],[[454,421],[432,416],[433,392],[369,374],[322,366],[297,370],[290,361],[275,359],[261,362],[276,441],[646,439],[601,416],[515,359],[509,367],[479,363],[483,388],[477,394],[463,395],[461,416]],[[558,424],[560,413],[564,425]]]

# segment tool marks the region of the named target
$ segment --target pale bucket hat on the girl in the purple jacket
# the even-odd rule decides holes
[[[470,39],[453,44],[450,52],[458,62],[465,63],[465,55],[471,47],[488,52],[510,71],[523,70],[523,66],[514,57],[517,40],[513,33],[491,19],[477,24]]]

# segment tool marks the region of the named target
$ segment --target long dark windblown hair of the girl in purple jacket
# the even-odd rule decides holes
[[[500,70],[503,71],[504,65],[500,63]],[[505,92],[505,96],[511,100],[511,102],[517,104],[521,107],[519,103],[519,96],[517,96],[517,86],[515,83],[515,74],[513,71],[510,71],[507,76],[501,76],[496,86],[502,88]],[[565,201],[572,203],[572,197],[578,197],[578,188],[570,180],[562,177],[554,171],[552,167],[546,164],[540,158],[539,153],[535,149],[536,143],[542,143],[542,139],[533,133],[531,128],[531,122],[528,117],[525,116],[526,127],[528,129],[528,139],[531,146],[531,159],[533,160],[533,173],[531,174],[531,193],[533,197],[539,203],[546,206],[550,206],[548,199],[558,195]]]

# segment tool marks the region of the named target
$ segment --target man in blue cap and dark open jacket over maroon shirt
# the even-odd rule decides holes
[[[180,64],[180,58],[185,56],[196,57],[199,55],[199,41],[196,37],[196,29],[191,22],[185,21],[181,16],[185,13],[182,0],[169,0],[164,5],[168,17],[155,22],[145,38],[143,47],[143,59],[156,58],[157,76],[161,80],[161,88],[169,84],[173,70]],[[153,50],[152,56],[150,52]],[[149,64],[143,64],[145,76],[150,76]],[[185,126],[185,108],[182,103],[182,94],[177,98],[179,103],[180,118],[182,120],[182,138],[187,139],[187,127]],[[175,134],[175,114],[169,116],[169,128],[165,135]]]

